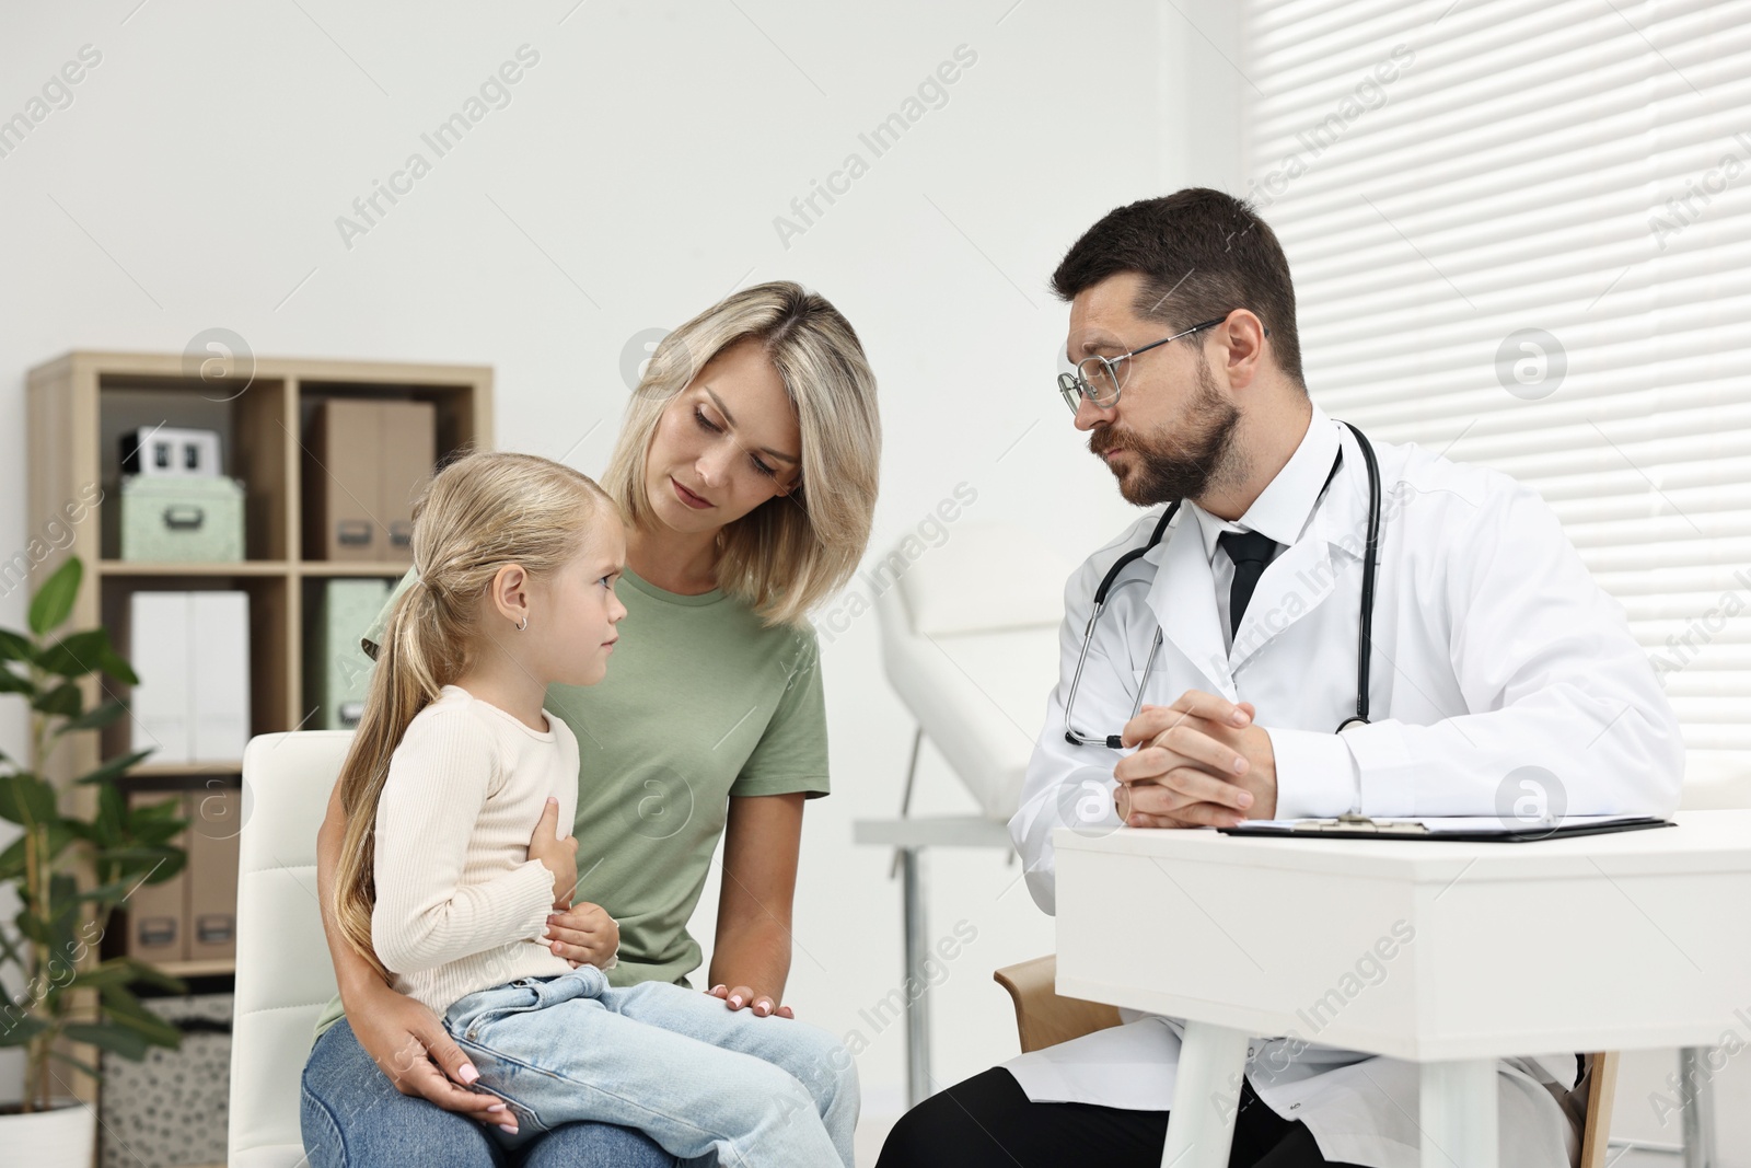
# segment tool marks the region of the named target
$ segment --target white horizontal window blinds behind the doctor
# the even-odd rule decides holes
[[[1751,765],[1751,0],[1248,0],[1313,398],[1536,487]]]

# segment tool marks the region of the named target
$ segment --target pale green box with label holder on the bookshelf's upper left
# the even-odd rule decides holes
[[[222,475],[126,475],[103,508],[124,560],[243,559],[243,483]]]

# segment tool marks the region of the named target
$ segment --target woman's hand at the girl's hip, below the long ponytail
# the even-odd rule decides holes
[[[389,1075],[401,1094],[427,1100],[447,1112],[480,1122],[499,1124],[510,1133],[517,1131],[517,1114],[504,1105],[504,1100],[469,1091],[480,1072],[468,1061],[438,1016],[413,998],[383,986],[373,991],[362,1007],[347,1010],[347,1023],[364,1052]]]

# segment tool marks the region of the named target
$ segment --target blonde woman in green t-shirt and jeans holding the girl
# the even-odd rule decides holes
[[[550,918],[557,954],[599,956],[601,905],[620,928],[613,984],[686,984],[702,956],[686,921],[721,835],[711,993],[727,1010],[790,1017],[802,806],[828,790],[807,613],[863,557],[879,455],[876,380],[826,299],[762,284],[658,345],[601,478],[629,518],[622,641],[602,683],[546,697],[588,776],[574,907]],[[411,573],[397,592],[410,583]],[[324,905],[343,834],[331,799],[317,844]],[[390,989],[326,909],[324,928],[340,996],[303,1077],[313,1168],[501,1164],[478,1124],[515,1119],[468,1089],[478,1075],[440,1019]],[[641,1133],[580,1122],[538,1140],[524,1163],[674,1161]]]

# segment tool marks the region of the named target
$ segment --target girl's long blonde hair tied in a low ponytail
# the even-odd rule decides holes
[[[413,504],[415,583],[383,627],[364,716],[340,769],[347,837],[331,911],[347,942],[390,981],[371,946],[376,904],[376,802],[389,756],[413,716],[471,664],[483,599],[506,564],[531,576],[583,552],[592,527],[623,522],[587,475],[531,454],[468,454],[445,466]]]

